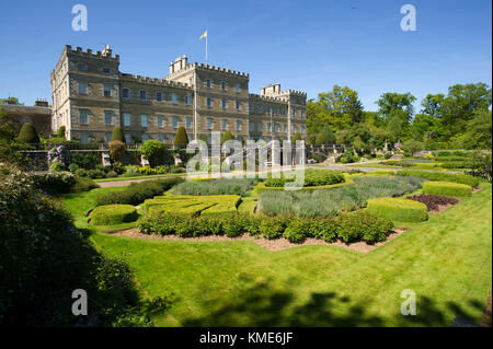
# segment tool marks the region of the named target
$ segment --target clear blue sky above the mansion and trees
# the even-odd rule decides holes
[[[88,8],[73,32],[72,5]],[[416,8],[417,31],[403,32],[400,9]],[[349,1],[8,1],[0,21],[0,97],[50,101],[49,72],[64,48],[111,44],[121,71],[162,78],[186,54],[250,73],[250,91],[278,82],[309,98],[334,84],[356,90],[368,110],[385,92],[427,93],[492,77],[490,0]]]

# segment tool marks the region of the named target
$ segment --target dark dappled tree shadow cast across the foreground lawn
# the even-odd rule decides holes
[[[271,281],[250,283],[238,292],[209,300],[204,307],[211,309],[203,317],[187,318],[184,326],[450,326],[451,319],[444,309],[455,316],[471,318],[471,315],[456,303],[437,305],[429,298],[416,300],[417,314],[403,316],[400,301],[392,318],[369,314],[365,303],[355,303],[348,296],[335,292],[313,292],[307,302],[293,306],[295,295],[289,287],[274,287]],[[391,302],[394,302],[392,300]],[[469,301],[469,306],[483,310],[484,304]],[[447,312],[449,314],[449,312]]]

